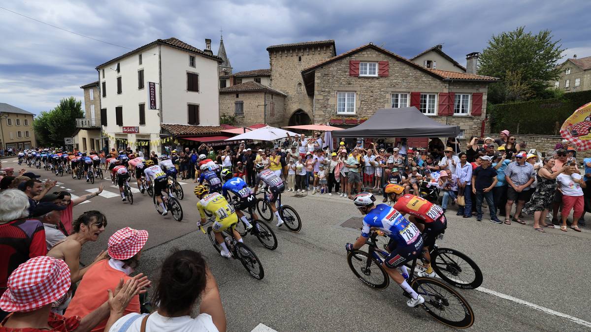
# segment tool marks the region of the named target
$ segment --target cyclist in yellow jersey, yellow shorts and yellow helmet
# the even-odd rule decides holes
[[[217,243],[222,247],[222,250],[220,250],[220,255],[225,258],[230,258],[232,255],[230,255],[228,246],[226,246],[226,242],[224,242],[222,232],[228,229],[228,227],[232,227],[234,238],[238,242],[243,242],[240,234],[238,234],[238,232],[236,232],[236,230],[233,228],[233,226],[238,222],[236,210],[232,204],[229,204],[228,201],[226,201],[226,198],[223,198],[222,194],[210,194],[207,190],[207,187],[202,184],[197,185],[193,192],[199,199],[197,202],[197,209],[199,210],[199,215],[201,216],[201,222],[197,222],[197,227],[200,227],[202,223],[207,223],[207,218],[216,216],[216,221],[213,222],[212,228]]]

